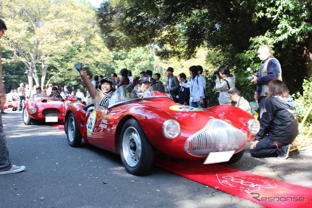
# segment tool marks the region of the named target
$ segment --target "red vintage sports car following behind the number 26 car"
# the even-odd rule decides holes
[[[40,97],[27,100],[23,109],[23,122],[31,125],[33,121],[59,122],[64,120],[66,108],[77,99]]]

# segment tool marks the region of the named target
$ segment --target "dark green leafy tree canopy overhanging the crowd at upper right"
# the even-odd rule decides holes
[[[245,69],[260,65],[261,44],[272,46],[292,92],[311,76],[311,8],[311,0],[108,0],[98,18],[110,49],[155,44],[162,58],[190,59],[206,46],[207,61],[228,65],[253,94]]]

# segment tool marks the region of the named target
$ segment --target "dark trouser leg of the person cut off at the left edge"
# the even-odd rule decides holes
[[[3,131],[2,118],[0,114],[0,171],[8,170],[12,167],[9,160],[9,150],[6,146],[6,139]]]

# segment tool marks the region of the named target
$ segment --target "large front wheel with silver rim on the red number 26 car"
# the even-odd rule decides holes
[[[133,175],[146,174],[154,160],[154,148],[135,119],[129,119],[120,134],[120,157],[123,166]]]

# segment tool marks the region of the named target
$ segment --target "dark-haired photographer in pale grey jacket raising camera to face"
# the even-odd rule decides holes
[[[225,65],[221,65],[217,71],[215,71],[215,88],[220,91],[219,104],[231,105],[232,99],[229,94],[229,89],[235,86],[235,77],[230,73],[230,69]],[[220,78],[223,79],[220,82]]]

